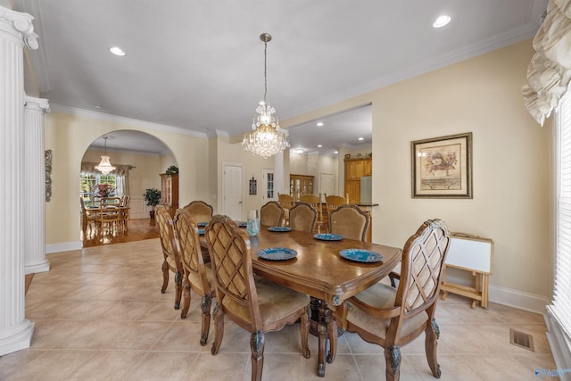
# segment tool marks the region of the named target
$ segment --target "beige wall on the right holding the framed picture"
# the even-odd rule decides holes
[[[527,298],[534,303],[528,308],[538,310],[553,283],[553,164],[551,128],[534,122],[521,95],[533,53],[526,40],[282,125],[372,103],[373,202],[380,204],[373,241],[401,246],[431,218],[446,220],[451,231],[492,238],[491,297]],[[474,139],[474,198],[411,198],[410,142],[464,132]]]

